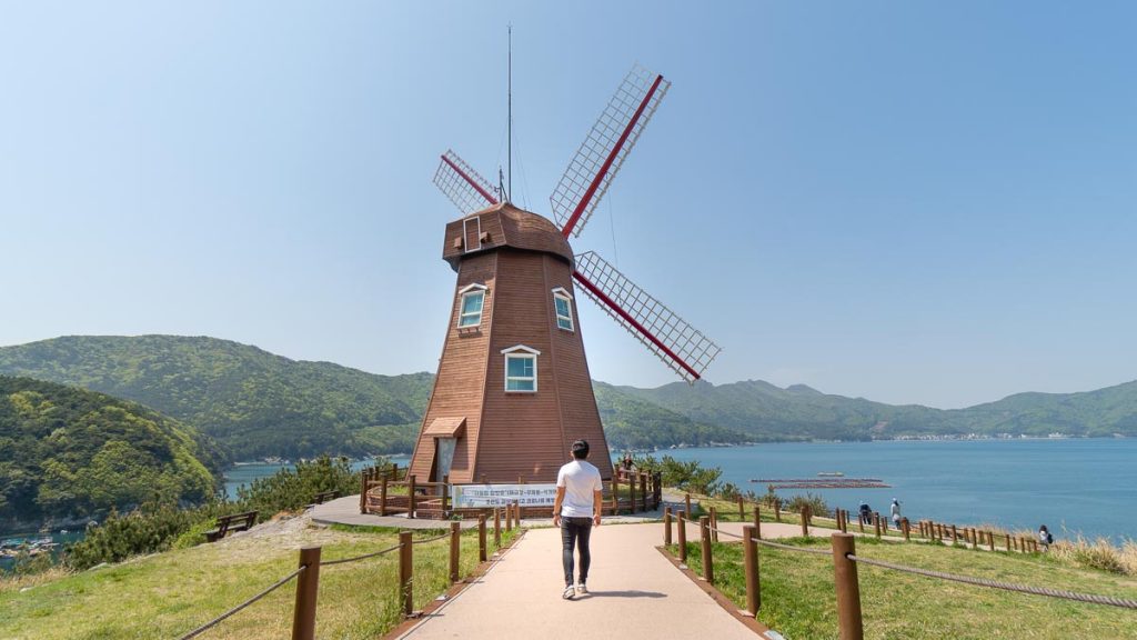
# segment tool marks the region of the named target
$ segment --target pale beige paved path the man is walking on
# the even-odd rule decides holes
[[[740,534],[741,524],[721,530]],[[697,525],[687,534],[697,540]],[[763,524],[764,536],[799,534],[799,526]],[[561,532],[530,528],[485,575],[400,638],[761,638],[663,557],[662,543],[659,523],[594,530],[590,593],[566,601]]]

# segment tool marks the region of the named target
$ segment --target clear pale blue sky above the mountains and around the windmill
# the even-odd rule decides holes
[[[713,383],[953,408],[1137,378],[1129,2],[8,2],[0,345],[209,335],[433,371],[453,147],[548,194],[634,61],[673,85],[575,251]],[[592,376],[678,378],[581,305]]]

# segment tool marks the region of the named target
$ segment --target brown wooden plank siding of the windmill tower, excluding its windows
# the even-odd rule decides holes
[[[447,225],[443,256],[457,268],[458,281],[409,473],[421,481],[433,479],[434,440],[425,435],[426,427],[438,418],[465,417],[451,482],[553,482],[570,458],[571,443],[581,437],[591,445],[589,460],[611,478],[611,454],[581,339],[571,247],[551,222],[509,205],[479,215],[481,230],[490,233],[493,245],[483,245],[479,252],[456,251],[454,240],[464,232],[462,221]],[[515,244],[515,238],[521,240]],[[482,322],[476,331],[458,330],[457,290],[474,282],[489,287]],[[574,331],[556,325],[553,289],[557,287],[573,295]],[[516,345],[541,352],[537,393],[505,391],[500,352]]]

